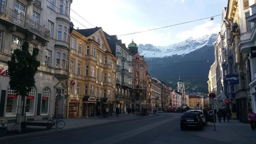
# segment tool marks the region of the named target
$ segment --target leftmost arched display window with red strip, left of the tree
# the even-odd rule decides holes
[[[18,106],[18,96],[8,87],[5,116],[16,116]]]

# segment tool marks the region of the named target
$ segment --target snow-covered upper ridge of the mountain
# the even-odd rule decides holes
[[[154,46],[152,44],[139,44],[139,54],[148,58],[162,58],[172,55],[185,55],[203,46],[212,46],[216,41],[217,34],[206,35],[199,38],[189,37],[183,42],[169,46]]]

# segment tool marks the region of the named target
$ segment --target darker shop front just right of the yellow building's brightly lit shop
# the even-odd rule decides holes
[[[95,116],[96,98],[94,96],[84,96],[82,116]]]

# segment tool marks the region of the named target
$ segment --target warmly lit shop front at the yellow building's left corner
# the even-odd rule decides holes
[[[81,99],[68,98],[68,118],[81,117]]]

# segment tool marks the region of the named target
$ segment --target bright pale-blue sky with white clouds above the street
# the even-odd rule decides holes
[[[224,7],[227,0],[74,0],[70,17],[74,28],[101,27],[126,45],[133,39],[136,44],[167,46],[189,37],[218,33],[221,15],[214,20],[161,27],[219,15]],[[161,29],[120,36],[154,28]]]

